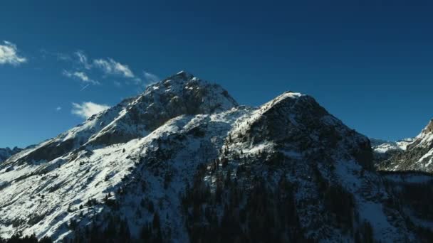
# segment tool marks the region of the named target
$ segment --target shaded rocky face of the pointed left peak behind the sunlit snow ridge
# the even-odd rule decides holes
[[[210,114],[236,106],[236,101],[221,86],[182,71],[150,85],[142,95],[125,99],[90,117],[84,124],[46,141],[20,161],[51,161],[86,146],[123,143],[146,136],[182,114]]]

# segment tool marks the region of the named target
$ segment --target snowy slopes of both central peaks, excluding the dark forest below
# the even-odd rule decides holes
[[[2,163],[0,236],[21,231],[59,242],[117,215],[137,237],[155,205],[170,241],[188,242],[180,196],[199,165],[223,161],[225,153],[229,168],[247,164],[268,185],[284,175],[297,186],[306,237],[353,239],[320,197],[322,178],[354,196],[355,212],[375,227],[377,240],[413,239],[400,212],[384,203],[390,195],[372,171],[370,141],[312,97],[285,92],[258,108],[238,106],[218,85],[186,72]],[[211,172],[203,180],[216,189]]]

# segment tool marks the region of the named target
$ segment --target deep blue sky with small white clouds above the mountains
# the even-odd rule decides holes
[[[241,104],[293,90],[367,136],[415,136],[433,117],[432,10],[428,1],[5,1],[0,147],[56,136],[179,70]]]

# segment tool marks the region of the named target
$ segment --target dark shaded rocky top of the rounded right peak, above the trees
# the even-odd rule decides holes
[[[372,169],[370,141],[349,129],[308,95],[286,92],[264,104],[247,124],[240,126],[233,137],[241,137],[237,140],[246,137],[253,145],[273,141],[281,148],[300,152],[316,148],[318,151],[308,151],[311,152],[308,156],[328,161],[355,156],[365,169]],[[340,157],[333,157],[333,151],[341,151]]]

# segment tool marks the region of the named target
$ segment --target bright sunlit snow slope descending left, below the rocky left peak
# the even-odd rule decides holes
[[[160,209],[161,215],[178,215],[177,207],[179,191],[185,179],[191,178],[201,153],[201,146],[208,145],[209,153],[215,152],[221,146],[219,138],[221,132],[231,128],[231,122],[236,117],[244,114],[242,110],[232,110],[220,114],[199,115],[197,117],[181,116],[167,122],[159,129],[153,131],[142,139],[132,139],[125,144],[115,144],[104,148],[80,151],[78,154],[56,158],[41,166],[23,164],[15,166],[14,171],[0,174],[2,181],[2,197],[0,199],[1,235],[10,237],[17,230],[22,229],[24,234],[36,233],[38,237],[51,236],[53,239],[63,239],[71,230],[68,222],[80,219],[82,225],[88,224],[90,218],[107,210],[103,205],[87,206],[89,200],[102,202],[108,194],[115,194],[122,184],[122,179],[130,176],[130,179],[145,181],[146,193],[140,191],[131,192],[122,199],[122,215],[135,213],[135,208],[140,207],[140,200],[147,198],[157,205],[157,202],[167,203]],[[188,132],[200,126],[204,136],[195,138]],[[151,162],[158,150],[157,140],[162,140],[162,146],[169,143],[172,136],[185,136],[183,141],[167,145],[173,158],[163,161],[159,173],[174,172],[173,183],[167,190],[164,189],[160,176],[151,172],[155,164]],[[167,140],[168,139],[168,140]],[[125,150],[125,151],[124,151]],[[162,151],[165,151],[164,149]],[[210,154],[212,156],[212,154]],[[75,158],[76,157],[76,158]],[[198,157],[198,158],[197,158]],[[202,158],[203,159],[203,158]],[[149,167],[147,167],[149,166]],[[152,167],[153,166],[153,167]],[[139,171],[138,174],[132,171]],[[19,172],[19,173],[17,173]],[[121,185],[122,184],[122,185]],[[134,186],[134,188],[137,188]],[[145,196],[144,196],[144,195]],[[80,206],[84,205],[82,209]],[[72,212],[71,212],[72,211]],[[164,214],[162,214],[164,212]],[[31,216],[32,215],[32,216]],[[135,217],[135,215],[134,215]],[[172,219],[181,217],[171,217]],[[165,217],[163,218],[165,219]],[[134,218],[130,223],[132,233],[137,236],[138,228],[149,218]],[[21,227],[13,227],[20,225]],[[173,232],[184,242],[187,236],[182,232],[182,220],[170,220],[163,222],[172,225],[179,232]],[[34,225],[32,225],[34,224]],[[32,225],[29,227],[29,225]]]

